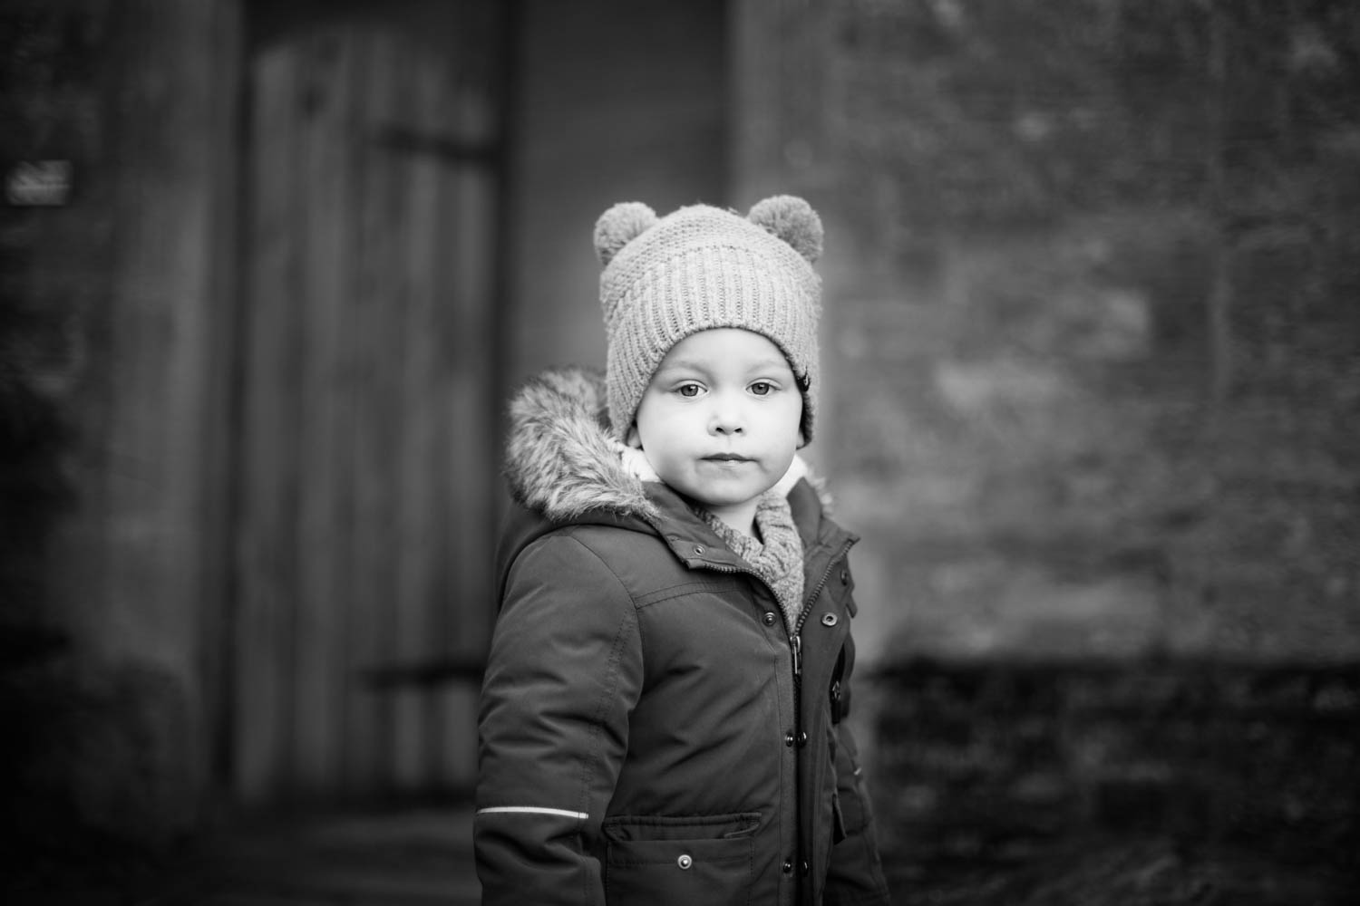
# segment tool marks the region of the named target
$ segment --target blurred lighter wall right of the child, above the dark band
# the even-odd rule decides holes
[[[1360,653],[1360,12],[758,7],[866,657]]]

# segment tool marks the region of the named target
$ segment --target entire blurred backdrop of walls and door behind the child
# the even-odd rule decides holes
[[[4,0],[0,58],[11,892],[475,902],[503,402],[602,365],[611,204],[793,193],[900,901],[1349,902],[1356,4]]]

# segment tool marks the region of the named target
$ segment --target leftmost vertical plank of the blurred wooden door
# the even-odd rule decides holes
[[[252,72],[256,106],[249,160],[249,312],[245,330],[245,479],[238,545],[241,600],[233,671],[235,788],[248,803],[277,785],[287,706],[288,602],[295,581],[298,321],[291,285],[296,236],[292,122],[296,72],[287,50],[262,54]]]

